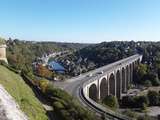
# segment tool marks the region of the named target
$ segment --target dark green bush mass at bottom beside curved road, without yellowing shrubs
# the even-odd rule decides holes
[[[90,112],[79,106],[65,91],[49,85],[45,91],[53,101],[53,107],[62,120],[93,120]]]

